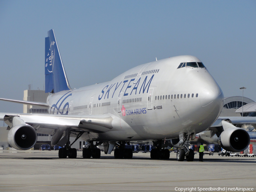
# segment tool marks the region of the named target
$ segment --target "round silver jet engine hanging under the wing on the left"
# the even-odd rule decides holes
[[[36,130],[27,124],[16,125],[8,133],[9,144],[18,150],[28,150],[37,141]]]

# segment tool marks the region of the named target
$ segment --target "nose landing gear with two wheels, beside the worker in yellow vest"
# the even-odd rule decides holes
[[[194,151],[193,149],[189,149],[190,145],[190,138],[191,134],[183,133],[183,142],[179,144],[182,148],[179,148],[177,151],[177,160],[178,161],[184,161],[185,157],[187,161],[193,161],[194,160]]]

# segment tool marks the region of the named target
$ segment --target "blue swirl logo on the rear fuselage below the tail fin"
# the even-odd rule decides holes
[[[69,102],[65,103],[65,100],[72,95],[72,93],[70,93],[71,91],[67,92],[66,94],[64,94],[58,101],[56,104],[53,104],[51,106],[50,109],[50,114],[61,114],[61,115],[67,115],[69,113]],[[68,94],[70,93],[70,94]],[[60,102],[60,104],[59,104]],[[63,103],[65,103],[63,105]],[[58,106],[59,104],[59,106]]]

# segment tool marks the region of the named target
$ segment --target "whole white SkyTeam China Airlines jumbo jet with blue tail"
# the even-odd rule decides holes
[[[49,114],[0,113],[0,120],[10,130],[9,144],[18,150],[32,148],[37,133],[43,133],[53,135],[52,146],[65,145],[59,150],[59,158],[77,157],[69,142],[70,137],[76,137],[88,146],[83,149],[84,158],[100,158],[97,146],[102,144],[106,154],[118,146],[115,158],[132,158],[133,152],[125,144],[153,141],[151,158],[168,159],[167,146],[183,140],[177,160],[186,157],[193,161],[189,138],[210,127],[223,106],[222,90],[203,63],[190,55],[152,61],[109,82],[71,89],[54,31],[50,30],[45,38],[44,65],[45,91],[51,93],[47,103],[1,99],[48,109]],[[243,129],[221,134],[224,146],[232,145],[234,140],[247,147],[240,143],[240,137],[249,139]]]

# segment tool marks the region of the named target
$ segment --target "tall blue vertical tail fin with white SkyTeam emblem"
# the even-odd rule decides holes
[[[55,34],[51,29],[45,38],[45,92],[57,93],[70,89]]]

